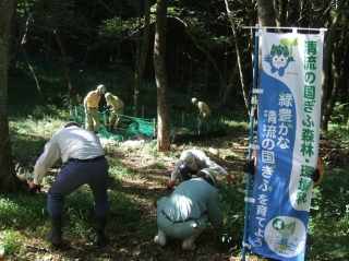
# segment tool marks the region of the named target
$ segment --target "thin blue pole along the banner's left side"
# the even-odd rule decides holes
[[[253,63],[253,87],[256,88],[257,78],[258,78],[258,25],[255,25],[255,35],[254,35],[254,63]],[[255,100],[256,94],[252,92],[251,97],[251,111],[250,111],[250,142],[249,142],[249,157],[248,161],[251,161],[252,156],[252,144],[253,144],[253,129],[254,129],[254,110],[255,110]],[[245,194],[245,206],[244,206],[244,225],[243,225],[243,241],[242,241],[242,261],[245,261],[246,254],[246,241],[248,241],[248,223],[249,223],[249,211],[250,211],[250,183],[251,183],[251,174],[248,174],[248,182],[246,182],[246,194]]]

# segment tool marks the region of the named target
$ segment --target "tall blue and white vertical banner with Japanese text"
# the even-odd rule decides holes
[[[254,203],[249,244],[255,253],[304,260],[321,117],[323,34],[261,37]]]

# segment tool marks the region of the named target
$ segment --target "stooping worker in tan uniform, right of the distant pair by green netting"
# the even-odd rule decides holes
[[[111,93],[106,93],[105,95],[107,105],[111,107],[110,111],[110,118],[109,118],[109,123],[108,119],[106,123],[109,126],[109,130],[113,130],[118,128],[118,124],[122,120],[122,115],[123,115],[123,102],[118,97],[112,95]],[[108,118],[108,115],[105,115]]]

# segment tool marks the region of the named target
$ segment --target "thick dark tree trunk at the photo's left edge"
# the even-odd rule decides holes
[[[8,119],[8,64],[16,1],[0,0],[0,191],[16,192]]]

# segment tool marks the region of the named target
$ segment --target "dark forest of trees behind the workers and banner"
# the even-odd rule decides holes
[[[0,1],[4,39],[0,43],[1,191],[21,190],[15,163],[21,162],[22,171],[31,173],[31,164],[49,139],[50,133],[43,126],[41,130],[28,128],[28,118],[46,123],[67,120],[69,109],[81,104],[86,93],[100,83],[132,105],[136,116],[145,106],[146,116],[164,123],[158,130],[158,152],[172,150],[168,139],[170,111],[194,110],[190,104],[193,96],[209,103],[214,111],[225,117],[227,126],[241,119],[249,124],[254,29],[244,26],[255,24],[327,28],[321,128],[326,135],[333,124],[345,126],[349,98],[348,2]],[[3,46],[7,39],[9,45]],[[27,131],[26,139],[43,139],[32,147],[34,151],[21,154],[20,151],[26,152],[21,143],[32,144],[24,143],[23,137],[21,142],[14,139],[23,135],[23,130]],[[345,146],[338,154],[345,156],[347,143],[342,135],[340,131],[340,138],[335,140],[341,143],[335,146]],[[341,170],[335,173],[336,178]],[[333,205],[338,206],[337,203]],[[337,209],[342,221],[348,222],[342,214],[347,213],[345,207],[341,204]],[[340,232],[348,233],[347,227]],[[338,244],[341,246],[342,241]]]

